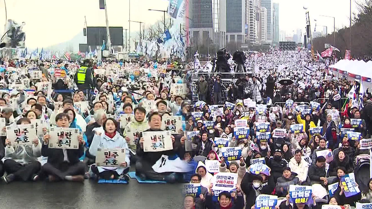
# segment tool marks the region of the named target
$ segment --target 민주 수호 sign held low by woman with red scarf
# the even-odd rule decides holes
[[[119,167],[121,163],[125,163],[124,148],[97,149],[97,166]]]

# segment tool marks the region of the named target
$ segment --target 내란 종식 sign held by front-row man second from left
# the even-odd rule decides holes
[[[80,130],[77,128],[52,127],[49,130],[49,148],[55,149],[78,149],[79,141],[77,136]]]

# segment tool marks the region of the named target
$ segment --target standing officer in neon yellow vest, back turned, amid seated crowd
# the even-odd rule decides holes
[[[81,67],[76,71],[74,81],[80,90],[93,89],[96,85],[93,83],[92,61],[84,60]]]

